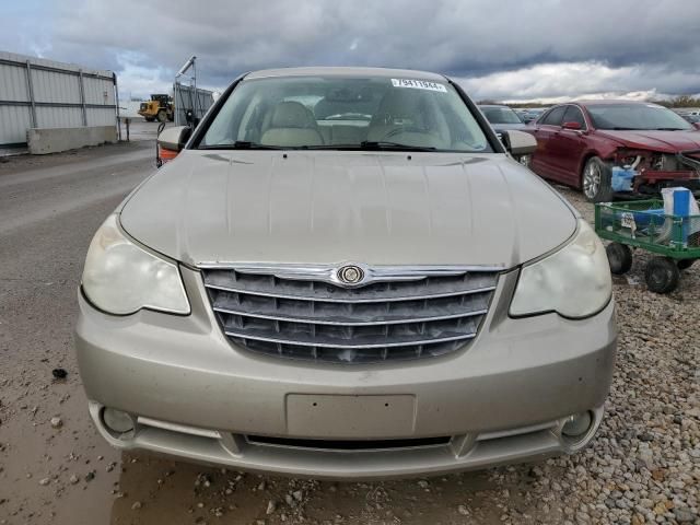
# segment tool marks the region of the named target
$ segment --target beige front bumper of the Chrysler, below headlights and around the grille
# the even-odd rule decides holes
[[[183,269],[183,278],[192,308],[185,317],[150,311],[115,317],[79,299],[81,376],[91,415],[115,446],[250,470],[385,478],[573,452],[599,424],[615,361],[612,303],[585,320],[556,314],[512,319],[511,272],[465,349],[343,366],[233,347],[206,302],[199,273]],[[103,407],[133,415],[136,430],[110,432]],[[564,438],[563,420],[584,411],[594,416],[588,431],[575,441]],[[385,446],[433,438],[445,441]],[[368,446],[334,445],[343,440]]]

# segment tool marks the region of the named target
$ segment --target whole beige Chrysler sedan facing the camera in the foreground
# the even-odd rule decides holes
[[[615,360],[600,241],[450,79],[237,79],[88,253],[75,346],[114,446],[358,479],[572,453]],[[503,145],[505,144],[505,145]],[[510,151],[509,151],[510,150]]]

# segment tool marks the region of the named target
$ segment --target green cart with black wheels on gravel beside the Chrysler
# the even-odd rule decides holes
[[[595,205],[595,231],[612,241],[606,248],[610,271],[622,275],[632,267],[632,249],[653,254],[644,279],[653,292],[669,293],[680,271],[700,259],[700,215],[669,215],[660,199]]]

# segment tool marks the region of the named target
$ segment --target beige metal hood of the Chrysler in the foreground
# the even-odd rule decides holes
[[[121,207],[125,231],[189,265],[512,267],[575,231],[503,154],[186,150]]]

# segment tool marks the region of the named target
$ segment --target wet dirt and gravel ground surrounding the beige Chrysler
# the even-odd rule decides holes
[[[0,523],[699,523],[700,265],[660,296],[643,284],[644,256],[615,279],[617,372],[578,455],[332,483],[112,450],[89,421],[72,352],[75,290],[93,232],[152,165],[151,141],[0,162]]]

